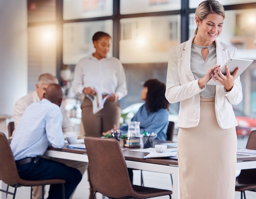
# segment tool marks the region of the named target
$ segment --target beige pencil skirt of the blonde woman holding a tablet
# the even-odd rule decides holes
[[[181,199],[234,199],[236,129],[221,129],[214,99],[200,100],[197,127],[179,128],[177,136]]]

